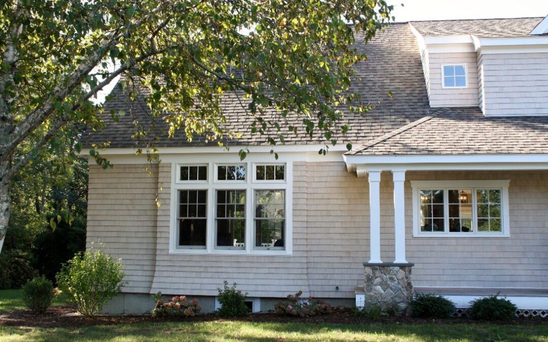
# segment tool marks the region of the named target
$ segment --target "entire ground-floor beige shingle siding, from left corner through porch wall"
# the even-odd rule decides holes
[[[293,256],[169,254],[170,164],[158,178],[145,165],[90,167],[88,246],[101,240],[122,258],[124,291],[215,295],[223,280],[250,297],[305,295],[353,298],[369,259],[369,192],[340,163],[294,163]],[[548,171],[408,172],[407,260],[415,286],[546,287],[548,283]],[[511,179],[509,238],[412,236],[410,179]],[[158,188],[158,183],[161,189]],[[392,176],[381,176],[381,257],[394,258]],[[162,205],[156,211],[155,194]],[[142,215],[125,215],[128,210]],[[336,290],[336,287],[339,290]]]

